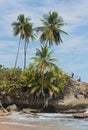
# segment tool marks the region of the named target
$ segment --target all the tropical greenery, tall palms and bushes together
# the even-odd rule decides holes
[[[61,68],[55,65],[58,60],[52,57],[54,53],[51,45],[62,42],[61,27],[65,25],[62,17],[57,12],[49,12],[41,20],[43,26],[33,28],[33,23],[28,17],[19,15],[17,21],[12,23],[14,36],[19,35],[19,45],[14,68],[5,68],[0,65],[0,90],[5,94],[14,95],[15,98],[25,96],[33,97],[41,101],[43,107],[47,107],[50,100],[58,100],[59,94],[63,93],[64,86],[69,77]],[[40,32],[40,48],[36,48],[33,63],[26,67],[26,54],[30,38],[35,39],[35,34]],[[17,61],[21,41],[24,40],[24,69],[17,68]],[[31,99],[30,99],[31,100]]]

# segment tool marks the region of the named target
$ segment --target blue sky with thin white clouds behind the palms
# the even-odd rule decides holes
[[[56,11],[66,23],[62,28],[68,35],[61,35],[63,43],[52,46],[57,65],[75,78],[88,82],[88,0],[0,0],[0,64],[13,68],[19,36],[14,37],[11,24],[17,16],[31,18],[34,27],[40,26],[41,18],[49,11]],[[20,47],[17,66],[23,67],[23,43]],[[29,42],[27,66],[30,57],[40,47],[38,38]],[[78,76],[78,77],[77,77]]]

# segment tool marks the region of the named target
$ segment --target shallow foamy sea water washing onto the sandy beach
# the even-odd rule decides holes
[[[60,113],[37,113],[36,115],[24,114],[22,112],[13,113],[10,116],[1,117],[8,118],[10,123],[16,125],[31,125],[31,126],[50,126],[57,127],[65,126],[76,130],[88,130],[88,118],[86,119],[75,119],[72,114],[60,114]],[[8,120],[6,122],[9,123]],[[59,130],[59,129],[58,129]]]

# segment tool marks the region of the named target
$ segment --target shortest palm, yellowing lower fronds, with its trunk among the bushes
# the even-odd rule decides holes
[[[41,49],[36,48],[36,56],[32,57],[31,59],[34,59],[35,65],[40,71],[41,77],[42,77],[42,95],[45,98],[44,94],[44,73],[47,70],[51,70],[52,68],[56,68],[57,66],[53,63],[54,61],[57,61],[55,58],[51,58],[54,51],[49,52],[49,47],[47,45],[41,46]]]

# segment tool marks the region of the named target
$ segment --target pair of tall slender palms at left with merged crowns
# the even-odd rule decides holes
[[[19,39],[19,45],[17,49],[17,55],[16,55],[16,60],[15,60],[15,68],[17,66],[17,60],[18,60],[18,55],[19,55],[19,49],[20,49],[20,43],[21,40],[25,39],[25,44],[24,44],[24,69],[26,67],[26,50],[27,50],[27,45],[29,43],[29,38],[31,37],[34,39],[34,34],[33,34],[33,24],[29,22],[29,18],[25,18],[24,15],[19,15],[17,17],[17,22],[12,23],[13,27],[13,32],[14,36],[17,36],[20,34],[20,39]]]

